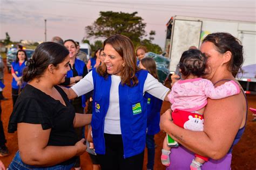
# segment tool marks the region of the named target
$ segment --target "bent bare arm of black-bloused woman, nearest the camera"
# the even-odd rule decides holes
[[[41,124],[18,124],[18,147],[22,161],[33,166],[52,166],[81,155],[86,150],[84,139],[75,146],[47,146],[51,129]]]

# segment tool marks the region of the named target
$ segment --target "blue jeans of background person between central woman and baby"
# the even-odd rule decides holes
[[[154,135],[146,135],[146,147],[147,147],[147,169],[153,169],[154,167]]]

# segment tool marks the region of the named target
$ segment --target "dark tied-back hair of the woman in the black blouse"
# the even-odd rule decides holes
[[[39,44],[32,58],[26,62],[27,67],[23,71],[23,80],[28,82],[41,77],[50,64],[57,67],[68,55],[69,50],[64,45],[53,42]]]

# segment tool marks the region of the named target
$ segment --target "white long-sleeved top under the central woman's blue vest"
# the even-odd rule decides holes
[[[119,84],[121,81],[120,76],[111,75],[111,87],[110,87],[110,103],[105,117],[104,133],[108,134],[122,134],[120,126],[120,111],[119,111]],[[104,87],[103,87],[104,88]],[[94,89],[92,71],[89,72],[83,79],[77,84],[71,87],[77,96],[90,92]],[[167,92],[170,89],[154,78],[150,73],[147,74],[145,84],[143,87],[143,94],[145,92],[150,93],[154,97],[164,100]]]

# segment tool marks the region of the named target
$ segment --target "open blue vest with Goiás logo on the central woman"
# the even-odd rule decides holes
[[[111,75],[104,78],[92,70],[94,94],[92,105],[92,134],[95,152],[105,154],[104,120],[109,109]],[[124,158],[142,153],[146,143],[146,99],[143,87],[147,71],[136,73],[138,85],[129,87],[119,84],[120,126],[124,146]],[[114,111],[113,111],[114,112]]]

